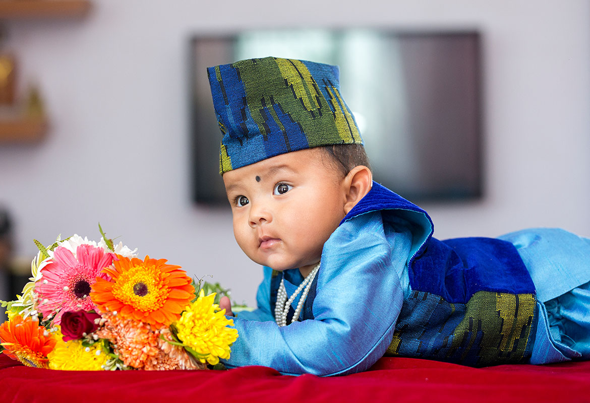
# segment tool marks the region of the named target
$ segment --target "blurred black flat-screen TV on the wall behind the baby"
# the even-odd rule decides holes
[[[227,203],[219,177],[221,133],[206,68],[267,56],[339,65],[341,93],[379,183],[415,202],[481,196],[477,32],[284,29],[192,38],[196,203]]]

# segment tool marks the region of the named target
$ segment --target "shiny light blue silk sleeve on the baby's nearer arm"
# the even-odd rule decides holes
[[[391,342],[411,242],[409,231],[384,227],[379,212],[343,223],[323,248],[314,319],[279,328],[238,316],[239,337],[224,364],[270,366],[288,375],[368,369]]]

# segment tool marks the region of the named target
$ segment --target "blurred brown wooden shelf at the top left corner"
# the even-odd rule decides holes
[[[89,9],[88,0],[0,0],[0,19],[78,17]]]

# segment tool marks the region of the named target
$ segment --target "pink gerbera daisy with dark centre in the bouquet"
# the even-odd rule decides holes
[[[55,315],[55,325],[60,324],[63,312],[94,309],[90,286],[97,277],[110,280],[101,270],[112,263],[113,254],[101,247],[80,245],[76,256],[65,247],[57,247],[53,259],[41,269],[42,278],[35,283],[37,309],[45,319]]]

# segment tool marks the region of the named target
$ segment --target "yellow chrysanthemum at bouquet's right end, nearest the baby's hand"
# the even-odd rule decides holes
[[[225,309],[219,310],[214,303],[215,293],[205,296],[201,289],[199,298],[191,303],[181,318],[175,323],[178,338],[189,349],[192,349],[201,362],[211,365],[219,362],[219,358],[230,358],[230,346],[238,338],[234,321],[225,317]]]

